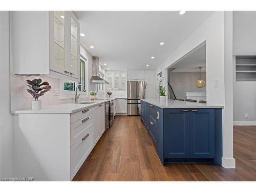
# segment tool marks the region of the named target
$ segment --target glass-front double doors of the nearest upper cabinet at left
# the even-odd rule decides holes
[[[50,70],[80,81],[80,24],[76,16],[72,11],[50,11],[49,20]]]

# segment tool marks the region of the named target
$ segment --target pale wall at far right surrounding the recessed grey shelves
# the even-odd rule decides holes
[[[256,55],[256,11],[233,12],[233,55]],[[233,121],[256,125],[256,81],[236,81],[233,60]],[[245,117],[245,113],[248,117]]]

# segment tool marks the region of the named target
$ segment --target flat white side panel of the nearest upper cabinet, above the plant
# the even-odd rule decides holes
[[[49,12],[10,12],[13,74],[49,74]]]

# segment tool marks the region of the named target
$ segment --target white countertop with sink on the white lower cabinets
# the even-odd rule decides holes
[[[66,103],[66,104],[58,104],[51,105],[42,108],[41,110],[16,110],[12,111],[12,114],[63,114],[63,113],[75,113],[77,111],[81,111],[84,109],[91,108],[98,104],[102,104],[108,102],[109,100],[97,100],[93,103],[79,104],[79,103]],[[84,101],[81,101],[84,102]]]

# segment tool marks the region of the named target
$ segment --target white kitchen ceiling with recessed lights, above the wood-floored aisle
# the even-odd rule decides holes
[[[75,11],[81,33],[86,34],[80,38],[82,46],[110,70],[155,69],[212,13]],[[160,46],[160,42],[164,45]]]

